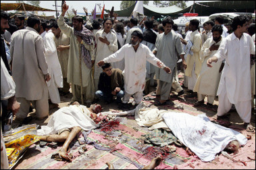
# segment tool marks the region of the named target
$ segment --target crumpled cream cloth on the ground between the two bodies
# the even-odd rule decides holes
[[[138,123],[138,125],[149,127],[149,130],[155,130],[159,128],[169,130],[168,126],[164,123],[162,118],[162,115],[167,112],[168,111],[159,110],[157,108],[152,109],[152,108],[146,107],[145,103],[140,102],[140,104],[131,111],[124,111],[120,113],[102,112],[101,115],[116,115],[116,116],[134,115],[134,118]]]

